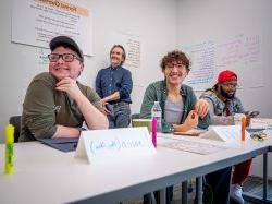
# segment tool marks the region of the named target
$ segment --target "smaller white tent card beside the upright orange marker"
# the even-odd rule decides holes
[[[210,139],[222,142],[240,141],[240,125],[210,125],[209,130],[201,135],[202,139]],[[246,140],[249,133],[246,131]]]

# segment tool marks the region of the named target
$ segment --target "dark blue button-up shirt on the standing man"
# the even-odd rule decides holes
[[[115,101],[110,101],[110,104],[115,104],[119,101],[132,103],[131,93],[133,89],[133,80],[129,70],[122,68],[121,65],[116,68],[106,68],[98,72],[96,79],[96,92],[103,98],[114,92],[120,93],[120,99]]]

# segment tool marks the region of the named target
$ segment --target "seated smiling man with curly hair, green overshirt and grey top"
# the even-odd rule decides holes
[[[162,132],[184,132],[194,128],[207,129],[210,122],[209,104],[197,99],[190,86],[183,84],[188,75],[190,62],[182,51],[174,50],[162,58],[161,71],[164,80],[151,83],[145,93],[140,109],[141,118],[151,118],[151,108],[159,101],[162,109]],[[211,203],[228,203],[231,167],[210,173],[218,179],[217,183],[206,183],[207,190],[213,191]],[[158,200],[158,192],[154,192]],[[150,195],[145,195],[147,203]],[[205,197],[206,193],[205,193]],[[173,187],[166,188],[166,203],[173,201]]]

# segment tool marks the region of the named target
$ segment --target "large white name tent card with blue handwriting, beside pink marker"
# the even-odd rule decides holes
[[[75,157],[89,163],[112,163],[156,154],[147,128],[83,131]]]

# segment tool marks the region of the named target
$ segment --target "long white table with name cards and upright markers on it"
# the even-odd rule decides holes
[[[17,143],[14,175],[0,169],[0,203],[118,203],[265,154],[271,141],[243,142],[212,155],[158,147],[151,157],[100,166],[39,142]]]

